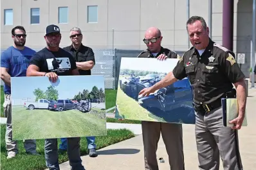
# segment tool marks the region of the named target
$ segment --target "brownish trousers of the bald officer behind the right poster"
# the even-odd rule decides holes
[[[142,121],[145,169],[158,170],[156,150],[158,149],[160,133],[169,155],[170,169],[185,169],[182,124]]]

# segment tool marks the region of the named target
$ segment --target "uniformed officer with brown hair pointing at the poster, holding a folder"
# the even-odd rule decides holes
[[[202,17],[188,19],[187,31],[193,47],[185,52],[172,72],[139,94],[148,96],[188,76],[194,90],[199,169],[218,170],[221,155],[224,170],[240,170],[237,130],[241,128],[246,107],[244,74],[235,62],[234,53],[208,37]],[[230,122],[233,127],[224,127],[221,98],[234,90],[232,83],[237,91],[239,115]]]

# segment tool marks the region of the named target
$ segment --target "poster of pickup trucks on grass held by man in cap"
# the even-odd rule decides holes
[[[106,135],[103,76],[11,81],[14,140]]]

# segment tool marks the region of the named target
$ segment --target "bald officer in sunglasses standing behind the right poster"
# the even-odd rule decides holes
[[[145,38],[143,39],[143,42],[147,45],[147,50],[140,53],[138,58],[158,58],[160,60],[166,58],[179,58],[177,53],[161,46],[162,38],[161,31],[158,28],[149,28],[145,32]],[[169,155],[171,169],[185,169],[182,125],[142,121],[145,169],[158,170],[156,150],[158,148],[160,133]]]

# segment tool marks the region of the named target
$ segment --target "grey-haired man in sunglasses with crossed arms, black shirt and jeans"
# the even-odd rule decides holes
[[[91,69],[93,69],[95,65],[93,49],[82,44],[83,35],[80,28],[71,28],[69,35],[72,44],[63,49],[71,53],[75,58],[80,75],[91,75]],[[86,137],[86,140],[89,149],[89,157],[97,157],[95,137]],[[61,138],[60,141],[59,150],[60,152],[64,152],[67,150],[67,139]]]

